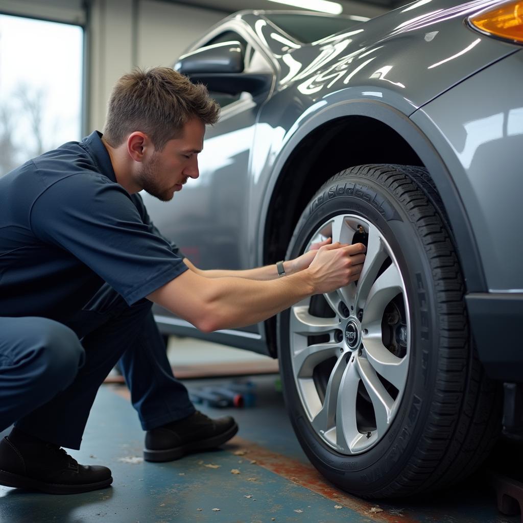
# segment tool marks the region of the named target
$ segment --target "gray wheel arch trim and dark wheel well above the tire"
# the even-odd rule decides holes
[[[452,177],[426,136],[400,111],[379,102],[326,107],[302,124],[272,170],[260,225],[263,263],[285,257],[303,209],[342,169],[362,164],[424,166],[444,202],[467,292],[486,290],[471,225]],[[276,319],[265,322],[269,353],[276,356]]]

